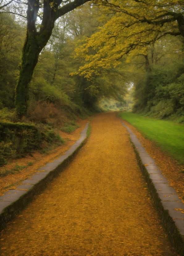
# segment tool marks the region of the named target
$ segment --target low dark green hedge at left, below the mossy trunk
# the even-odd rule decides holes
[[[45,131],[46,130],[46,131]],[[34,125],[25,123],[0,122],[0,166],[7,163],[10,157],[22,157],[32,150],[48,145],[61,144],[64,140],[54,132],[46,129],[44,132]],[[45,147],[47,146],[44,145]]]

